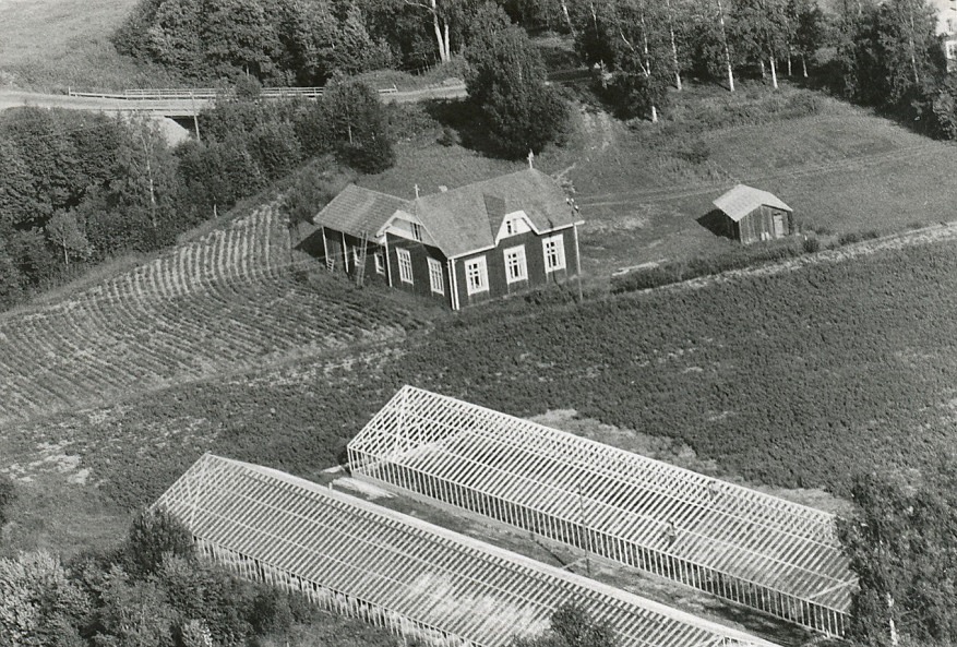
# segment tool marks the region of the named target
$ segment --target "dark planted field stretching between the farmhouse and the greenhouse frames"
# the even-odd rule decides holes
[[[411,383],[521,416],[572,408],[684,443],[718,476],[842,494],[857,470],[919,475],[953,447],[953,244],[586,308],[505,302],[364,354],[8,423],[0,455],[14,476],[48,484],[47,505],[58,505],[58,489],[82,486],[121,511],[151,501],[204,451],[315,476]],[[381,300],[373,290],[360,298]],[[32,501],[36,512],[22,512],[41,518],[23,528],[27,542],[58,523]]]

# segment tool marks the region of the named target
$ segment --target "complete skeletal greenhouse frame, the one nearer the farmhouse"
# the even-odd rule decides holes
[[[406,386],[352,475],[841,635],[857,580],[834,516]]]

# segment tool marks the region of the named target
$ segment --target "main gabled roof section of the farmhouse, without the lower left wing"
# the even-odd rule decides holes
[[[517,211],[525,212],[539,232],[577,221],[562,188],[537,169],[423,195],[411,208],[450,257],[494,247],[505,215]]]

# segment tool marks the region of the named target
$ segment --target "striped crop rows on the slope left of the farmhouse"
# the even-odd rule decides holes
[[[294,280],[287,244],[265,206],[91,289],[0,319],[0,423],[400,332],[381,308]]]

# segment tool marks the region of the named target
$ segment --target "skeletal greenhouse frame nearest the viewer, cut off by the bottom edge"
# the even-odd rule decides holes
[[[777,647],[274,469],[206,454],[154,506],[235,573],[431,645],[505,647],[577,602],[620,647]]]

